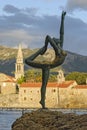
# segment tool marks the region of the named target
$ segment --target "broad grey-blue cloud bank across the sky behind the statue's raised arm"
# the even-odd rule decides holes
[[[16,8],[16,7],[15,7]],[[38,16],[38,9],[18,9],[16,13],[0,16],[0,44],[18,46],[24,43],[30,48],[44,45],[46,35],[59,37],[60,16]],[[14,11],[15,12],[15,11]],[[87,24],[66,15],[64,49],[87,55]]]

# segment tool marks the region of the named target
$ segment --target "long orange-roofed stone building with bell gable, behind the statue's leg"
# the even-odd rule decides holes
[[[87,108],[87,85],[76,81],[65,81],[62,70],[58,71],[57,82],[48,82],[46,88],[46,107],[48,108]],[[26,82],[19,87],[20,106],[40,108],[41,82]]]

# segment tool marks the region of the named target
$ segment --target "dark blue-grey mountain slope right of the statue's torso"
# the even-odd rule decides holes
[[[66,72],[87,72],[87,56],[82,56],[72,52],[67,53],[68,55],[62,65]]]

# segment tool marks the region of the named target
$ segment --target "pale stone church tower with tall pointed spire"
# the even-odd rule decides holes
[[[23,63],[22,46],[20,44],[15,64],[15,78],[19,79],[21,78],[21,76],[24,76],[24,63]]]

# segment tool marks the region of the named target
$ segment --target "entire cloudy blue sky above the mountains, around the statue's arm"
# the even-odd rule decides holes
[[[87,0],[0,0],[0,45],[43,47],[59,38],[63,10],[64,50],[87,56]]]

